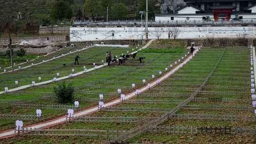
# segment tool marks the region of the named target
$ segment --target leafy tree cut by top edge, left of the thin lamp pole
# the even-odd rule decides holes
[[[86,0],[83,5],[83,14],[85,18],[97,19],[102,14],[101,2],[99,0]]]

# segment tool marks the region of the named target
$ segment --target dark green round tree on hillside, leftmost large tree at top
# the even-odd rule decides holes
[[[55,21],[62,21],[64,19],[71,19],[73,14],[72,9],[67,3],[65,3],[64,1],[57,1],[51,9],[50,16]]]

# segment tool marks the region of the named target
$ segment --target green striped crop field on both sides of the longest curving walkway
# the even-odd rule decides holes
[[[158,44],[153,43],[152,45]],[[154,47],[152,46],[152,48]],[[131,83],[135,83],[137,88],[142,87],[143,79],[146,82],[152,81],[152,74],[158,77],[159,71],[164,73],[165,68],[169,69],[169,65],[181,59],[187,51],[187,49],[181,47],[164,50],[149,48],[137,54],[137,57],[146,57],[145,63],[128,60],[123,66],[111,65],[68,79],[66,82],[72,83],[76,88],[77,98],[95,99],[94,102],[81,102],[82,108],[88,108],[98,104],[97,99],[101,92],[104,95],[104,102],[107,102],[119,97],[117,89],[121,89],[123,93],[128,93],[133,90]],[[98,53],[101,53],[101,51],[98,50]],[[104,57],[104,55],[102,56]],[[202,85],[204,83],[205,85]],[[58,104],[54,100],[52,92],[53,87],[56,85],[57,83],[52,83],[1,95],[1,99],[2,101],[3,99],[20,99],[23,103]],[[193,95],[195,92],[196,94]],[[53,129],[93,129],[96,135],[102,135],[103,131],[115,130],[116,132],[113,132],[113,134],[120,136],[129,132],[129,130],[144,126],[150,121],[171,112],[191,96],[194,97],[174,113],[176,115],[179,114],[180,117],[174,117],[174,114],[172,114],[158,126],[253,127],[255,126],[255,121],[248,121],[248,119],[255,117],[250,95],[250,49],[246,47],[204,47],[189,63],[156,87],[139,94],[131,100],[123,101],[117,106],[104,108],[97,113],[91,114],[88,116],[91,117],[91,121],[74,120],[54,126]],[[32,113],[35,111],[32,108],[1,106],[0,110],[3,109],[8,109],[3,113]],[[58,112],[55,110],[42,110],[46,119],[66,113],[65,110]],[[208,118],[182,117],[188,114],[191,116],[197,114],[200,117],[207,114]],[[228,117],[230,115],[236,117],[236,119],[230,120]],[[226,118],[223,119],[221,117]],[[102,118],[108,120],[102,121]],[[130,121],[127,121],[128,119]],[[26,124],[30,124],[30,122]],[[4,127],[3,129],[13,128],[14,122],[0,121],[0,127]],[[137,131],[134,131],[134,133],[137,133]],[[60,132],[55,132],[55,134],[60,134]],[[89,134],[93,134],[93,132]],[[5,144],[27,144],[27,141],[38,144],[101,144],[107,139],[115,140],[115,136],[111,137],[111,134],[107,135],[107,137],[24,135],[5,139],[2,142]],[[184,134],[182,132],[170,134],[168,129],[155,128],[129,139],[129,142],[132,144],[253,144],[255,138],[252,134]]]

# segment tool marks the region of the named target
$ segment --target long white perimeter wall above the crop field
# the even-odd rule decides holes
[[[149,39],[168,38],[168,32],[174,27],[149,27]],[[236,38],[238,34],[256,37],[256,27],[177,27],[180,34],[177,38]],[[114,33],[114,36],[112,36]],[[70,27],[70,41],[97,40],[131,40],[145,39],[145,27]]]

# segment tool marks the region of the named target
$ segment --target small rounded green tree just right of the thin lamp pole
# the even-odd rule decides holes
[[[124,19],[127,18],[128,7],[122,3],[115,4],[111,9],[111,16],[113,19]]]

